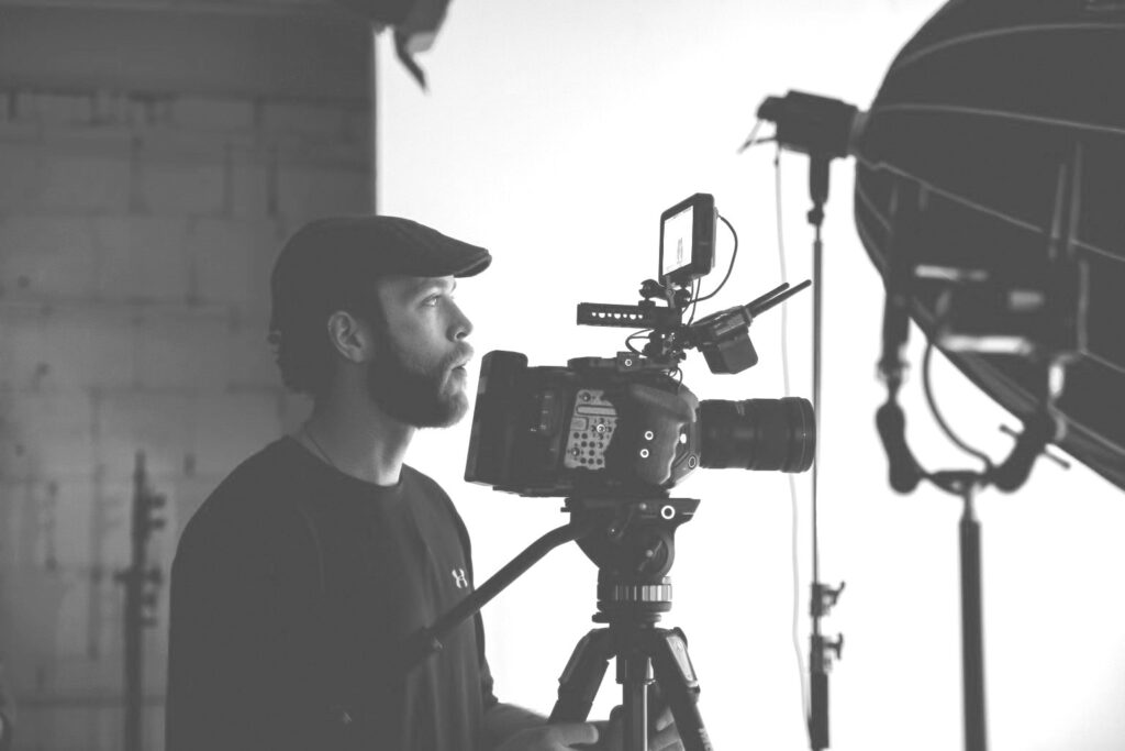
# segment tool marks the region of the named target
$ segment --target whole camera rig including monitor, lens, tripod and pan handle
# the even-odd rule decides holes
[[[547,551],[577,542],[598,569],[594,620],[609,627],[578,643],[550,722],[585,719],[615,659],[627,751],[648,748],[650,690],[670,708],[686,751],[712,749],[686,637],[678,628],[656,627],[672,608],[675,531],[699,507],[698,499],[668,498],[668,491],[699,466],[804,472],[814,455],[816,419],[807,400],[700,401],[682,383],[680,363],[692,348],[712,373],[754,366],[750,323],[810,284],[783,284],[694,322],[695,304],[722,288],[737,257],[738,235],[722,218],[735,242],[730,269],[714,292],[699,296],[699,280],[714,268],[720,218],[709,195],[676,204],[660,216],[659,277],[641,285],[641,302],[578,305],[579,324],[639,329],[626,340],[628,351],[575,358],[566,367],[528,367],[520,352],[485,355],[465,479],[522,495],[566,495],[570,520],[416,640],[432,649],[436,634]],[[646,334],[642,349],[631,346]]]

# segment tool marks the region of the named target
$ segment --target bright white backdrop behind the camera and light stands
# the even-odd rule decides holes
[[[780,280],[772,146],[736,157],[767,95],[800,89],[870,104],[932,0],[457,0],[421,92],[380,39],[380,211],[485,244],[495,262],[459,302],[471,340],[532,365],[611,356],[623,330],[579,329],[582,301],[634,303],[655,275],[658,216],[695,191],[716,196],[741,238],[722,295],[744,303]],[[766,128],[768,129],[768,128]],[[810,274],[807,160],[782,159],[791,280]],[[846,634],[831,678],[832,748],[961,745],[960,502],[894,495],[873,427],[882,287],[852,222],[852,166],[832,168],[825,226],[821,578],[846,580],[828,633]],[[722,231],[721,231],[722,232]],[[720,240],[718,267],[730,250]],[[717,284],[721,271],[704,288]],[[811,396],[811,294],[790,304],[795,394]],[[752,330],[760,364],[712,376],[685,367],[701,399],[783,395],[781,315]],[[914,361],[920,363],[920,337]],[[939,358],[938,358],[939,359]],[[475,364],[476,365],[476,364]],[[915,374],[919,370],[915,369]],[[470,374],[475,383],[476,373]],[[944,361],[939,403],[970,441],[1006,454],[1010,418]],[[908,384],[910,437],[924,463],[963,466]],[[474,536],[477,581],[547,529],[556,500],[461,480],[468,420],[424,433],[411,461],[454,497]],[[807,650],[809,476],[798,479],[800,649]],[[777,473],[700,471],[677,494],[703,500],[681,529],[675,607],[703,686],[716,748],[808,748],[792,618],[793,516]],[[1041,462],[1019,493],[984,494],[987,680],[993,749],[1125,749],[1125,497],[1081,466]],[[556,680],[592,627],[593,565],[552,553],[485,610],[503,700],[549,712]],[[612,672],[597,713],[619,699]]]

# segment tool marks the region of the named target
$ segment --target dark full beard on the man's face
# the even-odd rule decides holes
[[[379,337],[379,350],[368,366],[367,391],[390,417],[415,428],[448,428],[469,410],[469,400],[453,366],[471,350],[465,346],[426,366],[412,357],[389,331]]]

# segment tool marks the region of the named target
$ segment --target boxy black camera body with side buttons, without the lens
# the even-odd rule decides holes
[[[699,401],[642,357],[480,364],[465,479],[522,495],[641,498],[699,466]]]

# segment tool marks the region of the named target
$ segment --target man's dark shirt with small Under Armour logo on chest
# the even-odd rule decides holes
[[[291,438],[204,502],[172,565],[168,751],[466,751],[496,703],[480,618],[405,673],[403,641],[472,591],[449,497],[385,488]]]

